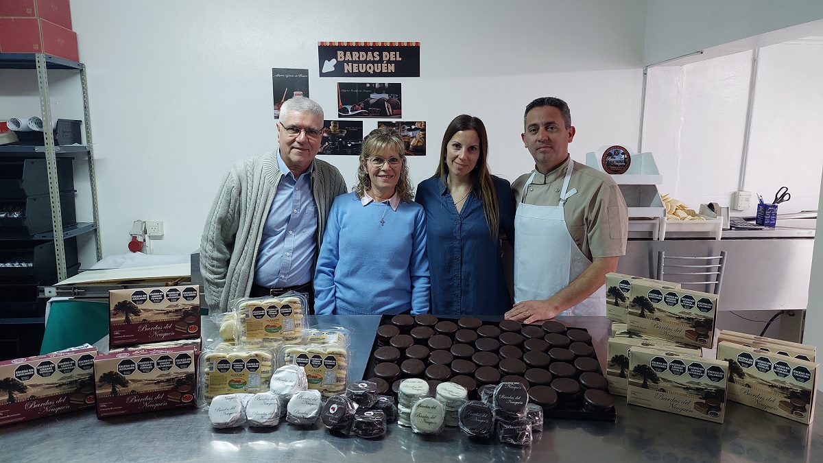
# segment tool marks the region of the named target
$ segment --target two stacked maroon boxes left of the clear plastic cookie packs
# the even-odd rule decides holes
[[[97,418],[194,406],[200,288],[109,291],[109,346],[94,362]]]

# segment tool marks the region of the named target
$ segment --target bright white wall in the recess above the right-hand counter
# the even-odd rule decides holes
[[[661,191],[692,207],[731,203],[742,168],[751,52],[649,69],[644,151],[663,174]],[[787,185],[780,213],[814,210],[823,157],[823,43],[760,49],[744,189],[766,202]],[[754,215],[756,203],[732,215]],[[811,226],[812,224],[809,223]]]

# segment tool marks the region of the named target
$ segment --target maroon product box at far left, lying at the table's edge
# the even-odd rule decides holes
[[[95,348],[0,362],[0,425],[95,406]]]

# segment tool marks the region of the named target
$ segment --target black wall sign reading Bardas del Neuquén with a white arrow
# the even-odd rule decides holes
[[[420,42],[319,42],[320,77],[420,77]]]

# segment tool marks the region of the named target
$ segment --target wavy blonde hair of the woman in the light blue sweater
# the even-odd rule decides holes
[[[385,127],[374,129],[363,138],[363,147],[360,150],[360,166],[357,167],[357,183],[352,190],[358,198],[362,198],[363,194],[369,191],[371,178],[365,164],[370,157],[387,150],[397,153],[402,162],[398,185],[394,189],[400,194],[401,199],[412,201],[414,199],[414,187],[412,187],[412,181],[409,180],[409,167],[406,161],[406,149],[403,139],[400,138],[400,133],[397,130]]]

